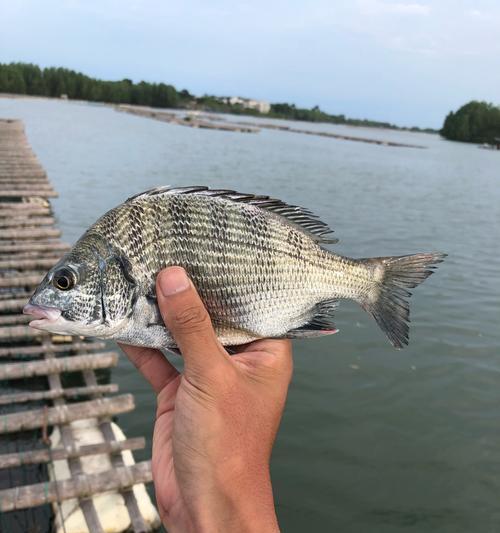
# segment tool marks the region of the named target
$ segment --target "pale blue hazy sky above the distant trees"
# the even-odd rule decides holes
[[[0,62],[439,128],[500,103],[500,0],[0,0]]]

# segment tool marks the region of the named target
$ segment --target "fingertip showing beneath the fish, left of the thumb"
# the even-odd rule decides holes
[[[121,343],[118,345],[137,370],[149,381],[156,394],[179,375],[160,350]]]

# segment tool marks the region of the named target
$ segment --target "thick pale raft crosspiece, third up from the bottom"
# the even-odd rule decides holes
[[[0,417],[0,434],[36,429],[45,425],[69,424],[83,418],[115,416],[132,411],[134,407],[134,397],[131,394],[121,394],[113,398],[11,413]]]

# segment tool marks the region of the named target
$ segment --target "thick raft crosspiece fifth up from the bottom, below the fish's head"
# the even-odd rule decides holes
[[[47,374],[57,374],[59,372],[76,372],[88,368],[109,368],[116,366],[117,362],[118,354],[116,352],[99,352],[70,355],[44,361],[3,363],[0,365],[0,380],[46,376]]]

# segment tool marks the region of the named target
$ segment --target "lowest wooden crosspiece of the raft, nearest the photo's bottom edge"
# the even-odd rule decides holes
[[[80,474],[71,479],[24,485],[0,491],[0,512],[27,509],[45,503],[120,490],[152,481],[151,461],[122,466],[99,474]]]

